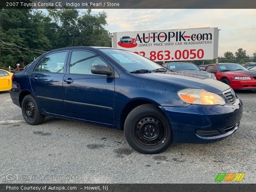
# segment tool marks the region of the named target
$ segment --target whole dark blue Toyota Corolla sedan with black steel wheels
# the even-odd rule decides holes
[[[112,126],[148,154],[172,142],[222,140],[242,118],[242,101],[227,84],[103,47],[43,54],[14,73],[10,95],[30,125],[53,116]]]

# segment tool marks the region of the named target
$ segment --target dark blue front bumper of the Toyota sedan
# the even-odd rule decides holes
[[[170,121],[174,142],[202,144],[222,140],[236,132],[243,112],[241,101],[236,105],[227,103],[224,106],[190,105],[160,106],[160,108]],[[215,136],[197,134],[204,131],[206,134],[211,131],[219,134]]]

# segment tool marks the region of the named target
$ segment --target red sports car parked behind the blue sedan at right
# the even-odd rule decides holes
[[[224,82],[233,89],[256,90],[256,71],[236,63],[219,63],[205,66],[206,71],[214,73],[217,80]]]

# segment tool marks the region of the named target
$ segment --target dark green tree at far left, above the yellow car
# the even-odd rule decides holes
[[[42,18],[42,12],[29,9],[0,10],[0,67],[24,66],[50,48]]]

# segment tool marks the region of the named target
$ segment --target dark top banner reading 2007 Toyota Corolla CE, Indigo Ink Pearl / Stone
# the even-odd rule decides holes
[[[0,7],[76,9],[227,9],[256,8],[255,0],[1,0]]]

